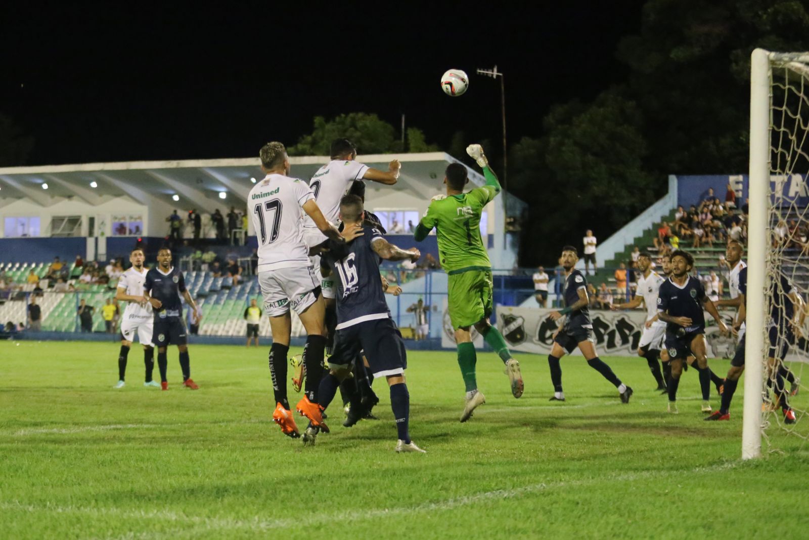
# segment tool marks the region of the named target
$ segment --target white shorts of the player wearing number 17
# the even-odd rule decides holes
[[[269,317],[288,313],[290,306],[295,313],[303,313],[317,300],[312,291],[320,285],[311,266],[259,272],[258,284],[264,295],[264,311]]]

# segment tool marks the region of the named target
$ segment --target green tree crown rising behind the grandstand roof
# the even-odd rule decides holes
[[[389,154],[403,151],[401,140],[394,127],[375,114],[348,113],[332,120],[315,117],[311,134],[303,135],[297,144],[287,148],[290,155],[328,155],[332,141],[348,138],[363,154]],[[417,127],[407,130],[409,152],[438,150],[427,144],[424,132]]]

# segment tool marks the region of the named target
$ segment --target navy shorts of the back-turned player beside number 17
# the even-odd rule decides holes
[[[337,330],[328,365],[348,368],[361,352],[375,377],[400,375],[407,369],[402,334],[390,317]]]

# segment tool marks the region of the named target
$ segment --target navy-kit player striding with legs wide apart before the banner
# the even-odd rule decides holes
[[[564,402],[565,392],[561,386],[561,365],[559,359],[570,354],[578,347],[582,351],[587,365],[601,373],[607,381],[618,389],[622,403],[629,403],[632,397],[632,388],[621,382],[615,373],[612,372],[604,360],[599,358],[595,352],[595,338],[593,337],[593,323],[590,320],[590,299],[587,297],[587,278],[580,271],[576,270],[578,262],[578,250],[572,245],[565,245],[561,249],[561,266],[565,269],[565,284],[563,295],[565,297],[565,308],[549,314],[553,321],[558,321],[561,317],[566,317],[564,324],[553,337],[553,348],[548,355],[548,366],[551,370],[551,382],[553,382],[553,396],[549,401]]]

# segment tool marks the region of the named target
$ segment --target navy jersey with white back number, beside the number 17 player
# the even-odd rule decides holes
[[[320,257],[337,283],[337,330],[390,317],[379,274],[382,259],[371,248],[384,236],[376,227],[364,225],[362,231],[349,244],[329,241],[329,250]]]

